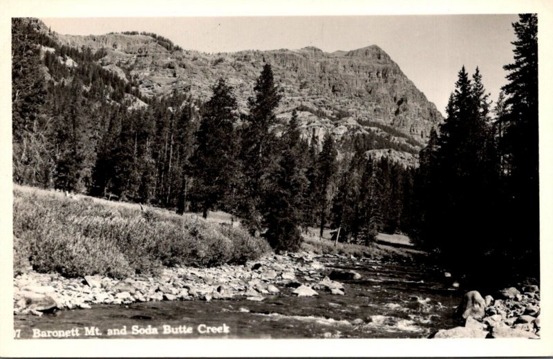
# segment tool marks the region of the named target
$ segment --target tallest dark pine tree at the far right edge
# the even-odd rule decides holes
[[[523,267],[539,273],[539,172],[538,172],[538,17],[520,14],[513,23],[514,63],[509,73],[502,116],[500,153],[504,161],[505,223],[509,251]]]

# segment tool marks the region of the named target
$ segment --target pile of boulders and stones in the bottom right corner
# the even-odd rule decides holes
[[[540,338],[538,286],[505,288],[496,293],[496,298],[482,298],[478,291],[465,293],[456,311],[465,326],[442,329],[432,338]]]

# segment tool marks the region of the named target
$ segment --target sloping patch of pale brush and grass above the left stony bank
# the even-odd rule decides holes
[[[138,204],[14,186],[14,271],[156,275],[166,266],[242,264],[270,251],[240,228]]]

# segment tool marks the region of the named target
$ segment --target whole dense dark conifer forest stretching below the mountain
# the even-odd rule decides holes
[[[463,67],[447,118],[411,168],[367,151],[413,153],[418,142],[377,132],[303,138],[295,110],[277,135],[281,93],[270,64],[251,84],[247,111],[225,79],[207,101],[186,92],[143,98],[133,81],[97,64],[101,50],[59,46],[31,21],[12,19],[13,180],[204,217],[227,211],[277,251],[299,249],[313,226],[364,244],[401,232],[471,280],[537,276],[536,15],[520,15],[514,30],[514,63],[495,106],[478,68],[470,76]]]

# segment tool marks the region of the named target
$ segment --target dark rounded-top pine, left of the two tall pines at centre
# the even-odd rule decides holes
[[[203,217],[223,200],[234,173],[237,171],[234,122],[236,99],[232,88],[219,79],[213,96],[203,109],[196,139],[198,147],[191,158],[196,200]]]

